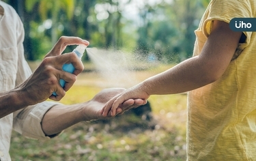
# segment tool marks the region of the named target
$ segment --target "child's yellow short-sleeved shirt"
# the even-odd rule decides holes
[[[194,55],[212,20],[256,17],[256,0],[212,0],[195,31]],[[218,81],[188,93],[188,160],[256,160],[256,32],[244,32]]]

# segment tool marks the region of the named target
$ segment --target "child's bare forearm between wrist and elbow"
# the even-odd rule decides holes
[[[141,87],[149,95],[174,94],[203,87],[216,81],[215,76],[207,64],[201,63],[199,57],[193,57],[175,65],[175,67],[147,78]],[[205,70],[208,69],[208,70]]]

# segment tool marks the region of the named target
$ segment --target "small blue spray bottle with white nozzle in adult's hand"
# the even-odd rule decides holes
[[[85,48],[87,48],[87,46],[81,44],[79,46],[76,46],[76,48],[73,50],[73,52],[76,53],[76,55],[79,57],[79,59],[81,59],[83,57],[83,53],[85,52]],[[73,73],[74,66],[72,65],[72,63],[66,63],[63,65],[62,70],[65,72]],[[66,82],[63,79],[59,80],[59,84],[61,85],[61,87],[64,87],[65,83]],[[53,92],[53,96],[57,96],[57,93]]]

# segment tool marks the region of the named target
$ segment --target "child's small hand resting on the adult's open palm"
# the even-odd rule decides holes
[[[147,94],[143,90],[143,83],[140,83],[139,85],[136,85],[130,89],[127,89],[126,91],[123,91],[119,95],[115,96],[109,102],[105,104],[105,106],[102,108],[100,113],[106,117],[107,115],[115,116],[118,113],[120,113],[119,108],[123,109],[123,111],[127,111],[130,108],[126,108],[123,106],[127,101],[130,100],[147,100],[147,98],[150,97],[150,95]],[[146,101],[144,103],[147,103]]]

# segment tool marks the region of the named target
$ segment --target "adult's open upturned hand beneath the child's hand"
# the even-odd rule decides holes
[[[124,92],[126,89],[122,88],[110,88],[103,89],[98,93],[92,100],[86,102],[86,106],[83,108],[83,115],[86,119],[85,121],[94,120],[94,119],[104,119],[106,117],[113,117],[115,115],[121,115],[125,111],[128,111],[130,108],[137,108],[143,104],[147,103],[147,100],[143,99],[128,99],[117,108],[117,113],[115,115],[102,115],[101,111],[106,102],[119,95],[119,93]]]

